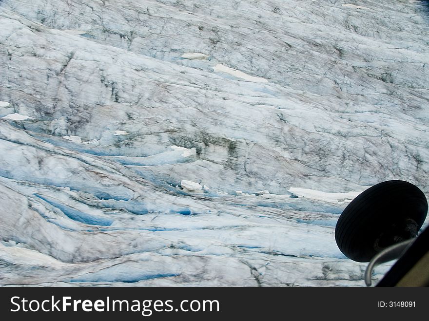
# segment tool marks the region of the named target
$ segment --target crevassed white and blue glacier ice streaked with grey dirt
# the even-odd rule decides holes
[[[342,210],[429,196],[428,1],[0,0],[0,26],[2,286],[364,286]]]

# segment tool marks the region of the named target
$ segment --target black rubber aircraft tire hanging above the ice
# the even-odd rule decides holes
[[[425,194],[405,181],[387,181],[359,194],[341,213],[335,241],[357,262],[417,235],[428,213]]]

